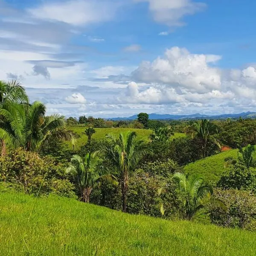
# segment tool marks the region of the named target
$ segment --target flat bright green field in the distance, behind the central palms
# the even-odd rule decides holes
[[[87,136],[84,134],[86,127],[70,127],[70,129],[81,137],[77,140],[77,148],[81,147],[87,142]],[[102,140],[107,134],[118,135],[121,132],[135,131],[140,140],[148,140],[148,136],[152,133],[151,130],[146,129],[131,129],[131,128],[95,128],[96,134],[93,134],[93,139]],[[183,133],[175,133],[174,138],[183,137]],[[70,145],[72,147],[72,145]]]

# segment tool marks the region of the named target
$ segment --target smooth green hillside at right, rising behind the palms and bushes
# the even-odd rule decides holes
[[[207,181],[216,182],[220,175],[224,172],[224,159],[226,157],[237,157],[237,150],[232,149],[215,154],[205,159],[189,163],[184,167],[186,173],[200,173]]]

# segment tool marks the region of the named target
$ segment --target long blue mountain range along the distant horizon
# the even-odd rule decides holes
[[[170,114],[155,114],[151,113],[148,114],[149,119],[153,120],[163,120],[163,119],[170,119],[170,120],[182,120],[182,119],[226,119],[226,118],[256,118],[256,112],[243,112],[238,114],[221,114],[216,116],[209,116],[209,115],[202,115],[200,113],[195,113],[192,115],[170,115]],[[129,116],[129,117],[114,117],[114,118],[107,118],[108,120],[135,120],[137,119],[137,115]]]

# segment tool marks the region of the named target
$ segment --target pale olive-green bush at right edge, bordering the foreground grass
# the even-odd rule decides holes
[[[256,196],[252,192],[216,189],[214,195],[226,205],[227,209],[217,208],[210,212],[213,224],[222,227],[256,229],[253,225],[256,222]]]

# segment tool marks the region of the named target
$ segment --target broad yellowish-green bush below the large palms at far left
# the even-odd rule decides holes
[[[49,193],[76,198],[74,186],[64,173],[65,167],[52,157],[19,148],[0,158],[0,181],[25,193]]]

